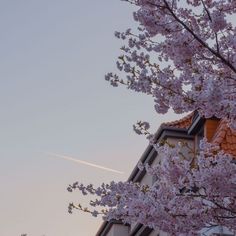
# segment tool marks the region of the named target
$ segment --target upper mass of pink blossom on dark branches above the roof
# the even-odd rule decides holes
[[[236,128],[236,1],[125,0],[137,6],[137,30],[116,32],[126,43],[113,86],[151,95],[158,113],[197,110],[229,118]],[[125,78],[120,78],[124,76]]]

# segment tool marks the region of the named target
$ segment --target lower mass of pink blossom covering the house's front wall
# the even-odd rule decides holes
[[[225,226],[236,233],[236,163],[217,146],[203,141],[193,165],[183,159],[180,146],[155,146],[164,158],[156,166],[143,166],[155,176],[152,186],[111,182],[98,188],[78,182],[68,187],[95,195],[85,212],[103,214],[106,220],[138,222],[170,235],[198,235],[202,229]],[[79,206],[79,207],[78,207]],[[83,210],[80,205],[70,205]],[[97,207],[103,210],[98,212]]]

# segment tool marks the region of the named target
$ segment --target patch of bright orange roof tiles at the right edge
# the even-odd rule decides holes
[[[230,129],[226,119],[220,121],[212,143],[219,145],[226,153],[236,156],[236,131]]]

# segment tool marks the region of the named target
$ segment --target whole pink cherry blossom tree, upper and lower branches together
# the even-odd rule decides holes
[[[157,113],[198,111],[205,118],[228,120],[236,129],[236,13],[234,0],[124,0],[136,6],[137,29],[116,32],[124,40],[111,85],[151,95]],[[153,186],[111,182],[95,188],[74,183],[68,191],[97,198],[90,207],[71,203],[105,219],[139,222],[170,235],[197,235],[201,229],[225,226],[236,233],[236,164],[234,157],[205,140],[195,163],[183,159],[180,147],[158,145],[147,122],[134,126],[165,154],[155,167]],[[100,210],[98,210],[100,209]]]

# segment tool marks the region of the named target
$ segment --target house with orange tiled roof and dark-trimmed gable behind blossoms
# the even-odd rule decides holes
[[[205,137],[208,142],[217,144],[225,152],[236,156],[236,132],[233,132],[224,119],[203,119],[197,112],[185,116],[184,118],[163,123],[155,134],[156,142],[167,141],[170,144],[184,142],[197,152],[200,140]],[[189,149],[188,149],[189,150]],[[189,153],[183,146],[183,153],[189,158],[194,158],[195,153]],[[161,154],[158,154],[152,145],[149,145],[140,158],[144,164],[156,165],[161,161]],[[152,185],[155,180],[146,174],[145,170],[139,170],[138,166],[133,169],[128,181],[139,182],[141,184]],[[231,235],[226,229],[219,227],[215,229],[214,235]],[[205,234],[206,235],[206,234]],[[167,233],[157,231],[135,223],[124,225],[120,221],[104,222],[98,230],[96,236],[167,236]]]

